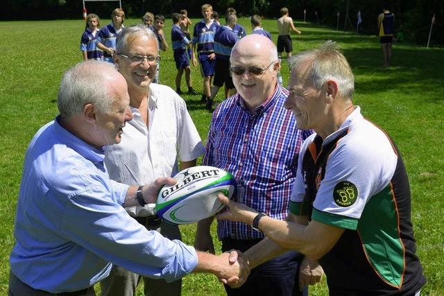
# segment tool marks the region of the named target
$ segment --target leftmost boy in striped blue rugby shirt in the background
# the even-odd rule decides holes
[[[83,60],[103,60],[103,52],[97,48],[99,27],[99,16],[94,13],[87,15],[85,32],[80,38],[80,51],[82,51]]]

